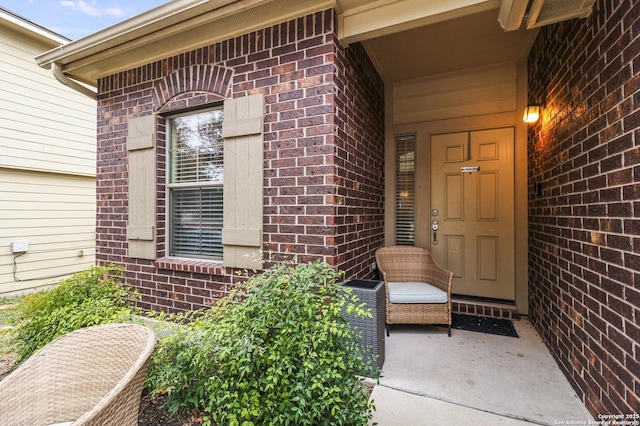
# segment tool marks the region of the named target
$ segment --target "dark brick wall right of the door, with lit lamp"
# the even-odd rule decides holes
[[[530,315],[594,417],[640,412],[640,8],[541,29],[529,55]],[[540,183],[542,193],[533,193]]]

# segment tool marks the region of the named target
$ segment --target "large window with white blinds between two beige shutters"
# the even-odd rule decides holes
[[[169,253],[222,259],[222,107],[168,118]]]

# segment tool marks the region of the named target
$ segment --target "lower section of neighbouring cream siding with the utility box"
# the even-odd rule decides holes
[[[59,281],[95,263],[95,180],[0,168],[0,294]],[[29,241],[15,259],[11,242]],[[55,277],[55,278],[54,278]]]

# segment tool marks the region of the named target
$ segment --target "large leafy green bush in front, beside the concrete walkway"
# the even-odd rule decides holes
[[[254,276],[161,340],[148,386],[218,424],[366,425],[367,366],[343,314],[371,314],[341,276],[321,262]]]

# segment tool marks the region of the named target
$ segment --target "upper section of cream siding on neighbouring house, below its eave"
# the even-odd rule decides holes
[[[0,167],[95,176],[96,102],[36,64],[54,45],[0,29]]]

